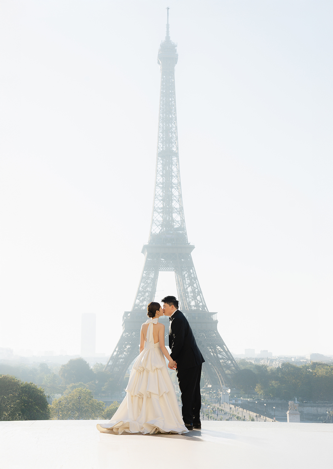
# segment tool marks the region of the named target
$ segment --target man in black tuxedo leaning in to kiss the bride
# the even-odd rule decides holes
[[[204,357],[196,344],[189,321],[178,309],[174,296],[162,299],[165,316],[169,316],[170,356],[176,362],[177,378],[182,393],[182,417],[188,430],[200,429],[200,378]]]

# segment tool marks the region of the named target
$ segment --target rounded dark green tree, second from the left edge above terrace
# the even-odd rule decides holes
[[[23,420],[49,420],[50,409],[44,389],[33,383],[21,384],[21,414]]]

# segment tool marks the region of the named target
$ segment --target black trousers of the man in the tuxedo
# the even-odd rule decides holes
[[[201,367],[194,366],[192,368],[177,368],[177,378],[179,389],[182,393],[182,417],[184,424],[192,425],[200,423],[200,378]]]

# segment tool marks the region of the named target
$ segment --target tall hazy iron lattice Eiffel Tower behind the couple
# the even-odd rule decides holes
[[[161,42],[158,63],[161,69],[159,133],[156,179],[150,237],[144,244],[144,268],[131,311],[123,315],[123,333],[106,364],[120,384],[130,363],[138,355],[140,327],[146,320],[147,305],[154,301],[159,272],[175,273],[179,309],[189,320],[205,363],[202,373],[205,385],[227,386],[239,370],[217,330],[216,313],[208,311],[202,294],[189,244],[179,170],[174,67],[178,60],[177,45],[169,35],[167,8],[166,38]],[[170,295],[173,293],[170,292]],[[166,324],[168,344],[168,323]]]

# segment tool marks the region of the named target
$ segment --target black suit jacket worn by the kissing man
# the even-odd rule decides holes
[[[177,363],[177,368],[187,369],[204,363],[189,321],[180,310],[170,317],[169,347],[170,356]]]

